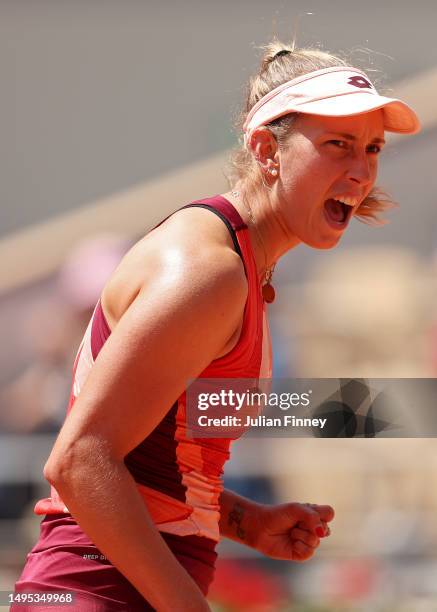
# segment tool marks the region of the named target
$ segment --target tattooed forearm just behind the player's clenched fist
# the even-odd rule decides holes
[[[224,489],[220,496],[220,535],[254,547],[261,504]]]

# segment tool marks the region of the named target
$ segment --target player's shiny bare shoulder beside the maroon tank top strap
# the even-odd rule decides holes
[[[208,292],[216,300],[221,298],[224,307],[227,304],[240,312],[244,308],[247,279],[243,262],[228,228],[209,210],[177,211],[126,254],[102,294],[111,328],[158,277],[176,285],[189,283],[193,298],[199,291]],[[183,295],[188,297],[186,290]]]

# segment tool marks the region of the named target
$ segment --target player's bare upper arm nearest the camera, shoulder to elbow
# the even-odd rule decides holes
[[[57,476],[90,448],[122,460],[235,330],[247,297],[230,249],[163,249],[102,347],[46,464]]]

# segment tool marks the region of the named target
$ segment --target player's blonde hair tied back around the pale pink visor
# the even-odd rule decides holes
[[[274,39],[261,48],[264,49],[264,55],[258,74],[249,79],[246,101],[235,122],[239,145],[231,153],[226,168],[226,176],[231,188],[237,182],[244,181],[246,191],[252,193],[266,187],[258,164],[243,142],[243,124],[250,109],[269,91],[287,81],[314,70],[348,65],[345,59],[339,56],[319,49],[296,49],[294,44],[286,45],[278,39]],[[275,119],[266,126],[275,136],[280,147],[292,132],[295,117],[296,113],[290,113]],[[395,207],[397,204],[384,190],[374,187],[357,209],[355,216],[368,225],[384,225],[387,221],[379,215]]]

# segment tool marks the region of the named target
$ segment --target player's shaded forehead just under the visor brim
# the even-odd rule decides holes
[[[294,128],[308,136],[336,132],[351,134],[357,139],[383,138],[384,116],[381,109],[350,117],[322,117],[301,113]]]

